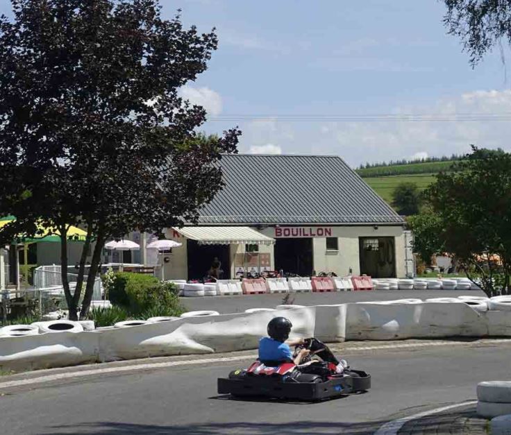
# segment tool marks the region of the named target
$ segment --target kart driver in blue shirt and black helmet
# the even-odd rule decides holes
[[[293,362],[298,366],[310,350],[301,349],[299,354],[293,358],[290,346],[303,344],[303,339],[289,340],[291,322],[285,317],[274,317],[269,321],[267,331],[269,337],[262,337],[259,341],[259,361],[267,366],[278,365],[282,362]]]

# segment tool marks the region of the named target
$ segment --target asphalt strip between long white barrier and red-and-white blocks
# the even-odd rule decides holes
[[[403,298],[455,298],[461,295],[485,296],[480,290],[371,290],[339,291],[326,293],[291,293],[296,305],[330,305],[367,300],[393,300]],[[275,308],[283,303],[284,294],[205,296],[203,298],[181,298],[189,311],[214,310],[220,314],[240,313],[249,308]]]

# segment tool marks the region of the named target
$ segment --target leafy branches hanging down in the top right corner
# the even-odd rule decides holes
[[[444,24],[451,35],[462,40],[470,64],[476,64],[504,40],[511,44],[511,1],[444,0]]]

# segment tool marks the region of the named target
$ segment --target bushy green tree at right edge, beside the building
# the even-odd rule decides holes
[[[410,220],[421,255],[448,253],[488,296],[511,293],[511,154],[478,149],[426,190],[428,214]]]

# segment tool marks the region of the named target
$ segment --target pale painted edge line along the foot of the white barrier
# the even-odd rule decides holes
[[[511,339],[498,339],[483,341],[482,343],[511,343]],[[385,350],[385,349],[399,349],[399,348],[424,348],[424,347],[435,347],[435,346],[467,346],[470,342],[466,341],[428,341],[426,343],[401,343],[392,344],[388,346],[365,346],[361,348],[346,348],[348,352],[356,352],[358,350]],[[92,375],[104,375],[109,373],[124,373],[124,372],[135,372],[143,370],[155,370],[158,368],[167,367],[178,367],[178,366],[196,366],[199,364],[208,363],[222,363],[232,361],[243,361],[246,359],[255,359],[257,355],[242,355],[236,357],[221,357],[221,358],[204,358],[204,359],[190,359],[187,361],[168,361],[162,363],[150,363],[150,364],[134,364],[131,366],[121,367],[106,367],[106,368],[92,368],[90,370],[81,370],[76,372],[67,373],[56,373],[55,375],[45,375],[39,377],[31,377],[29,379],[19,379],[16,381],[0,382],[0,389],[11,388],[14,386],[24,386],[31,384],[40,384],[44,382],[53,382],[61,379],[75,379],[78,377],[87,377]]]

